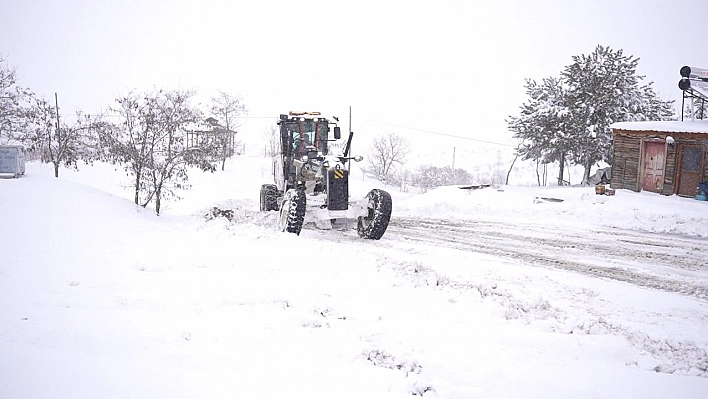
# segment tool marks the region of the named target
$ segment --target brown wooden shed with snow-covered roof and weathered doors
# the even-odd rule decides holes
[[[696,195],[708,180],[708,120],[618,122],[610,184],[616,189]]]

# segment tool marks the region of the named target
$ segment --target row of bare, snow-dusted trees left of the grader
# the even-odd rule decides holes
[[[194,105],[194,91],[153,90],[115,99],[105,114],[77,111],[67,120],[59,115],[56,99],[38,97],[17,84],[15,68],[0,54],[0,144],[23,144],[42,162],[78,168],[79,162],[107,161],[121,165],[133,178],[134,202],[155,205],[188,180],[189,168],[214,172],[233,155],[233,134],[244,114],[243,100],[225,92],[212,98],[208,108],[212,125],[208,135],[187,145],[188,131],[203,128],[206,113]],[[110,118],[109,118],[110,116]]]

